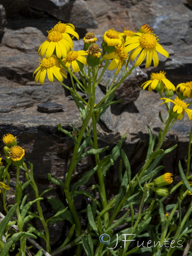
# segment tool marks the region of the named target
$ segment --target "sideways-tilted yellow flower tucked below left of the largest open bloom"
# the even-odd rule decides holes
[[[103,58],[107,60],[113,59],[108,66],[108,70],[114,70],[116,67],[118,67],[114,74],[117,74],[121,70],[123,65],[126,65],[125,60],[128,59],[128,54],[123,53],[123,49],[124,47],[121,46],[120,48],[116,49],[115,52],[111,52],[103,56]]]

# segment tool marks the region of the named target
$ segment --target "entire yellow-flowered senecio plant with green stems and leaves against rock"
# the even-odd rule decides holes
[[[80,112],[82,126],[78,129],[72,124],[73,131],[64,130],[61,124],[58,130],[74,141],[74,151],[68,172],[63,181],[52,177],[48,173],[48,180],[64,189],[65,200],[48,198],[55,214],[45,219],[41,208],[41,200],[44,194],[51,188],[47,188],[39,195],[33,172],[33,164],[25,163],[25,150],[18,145],[15,135],[7,133],[3,136],[4,154],[0,167],[0,187],[2,188],[2,204],[6,216],[0,223],[0,255],[35,255],[54,256],[126,256],[148,252],[148,255],[172,255],[175,250],[182,255],[192,255],[191,234],[192,219],[192,195],[189,175],[191,158],[191,137],[189,136],[188,156],[183,171],[179,162],[180,179],[172,185],[174,173],[165,170],[158,163],[172,148],[162,149],[165,136],[172,125],[182,122],[187,113],[189,120],[192,119],[191,104],[186,103],[186,98],[192,98],[192,82],[181,83],[175,86],[166,78],[165,72],[152,73],[150,80],[141,85],[143,90],[148,87],[149,92],[156,90],[160,94],[160,105],[164,105],[167,116],[162,117],[162,129],[158,136],[152,134],[148,127],[149,143],[146,160],[141,169],[134,173],[129,164],[128,157],[122,147],[126,139],[125,134],[120,141],[111,149],[109,154],[104,148],[98,148],[97,123],[100,117],[111,104],[121,102],[114,101],[116,88],[126,79],[135,67],[138,67],[146,58],[145,67],[158,65],[157,52],[169,57],[163,47],[158,43],[159,39],[147,24],[141,26],[138,32],[125,29],[122,33],[114,28],[109,29],[103,35],[103,42],[96,44],[97,38],[91,32],[83,38],[84,49],[73,49],[73,38],[79,39],[72,24],[58,22],[54,28],[48,31],[47,40],[39,47],[40,64],[36,68],[35,82],[44,83],[47,75],[50,82],[56,79],[62,86],[67,88],[73,97]],[[130,69],[128,64],[134,63]],[[135,61],[136,60],[136,61]],[[106,94],[98,102],[96,90],[102,81],[106,69],[111,70],[111,79],[106,84]],[[117,74],[122,70],[122,76]],[[76,75],[78,73],[78,76]],[[71,78],[71,87],[65,84],[67,76]],[[79,93],[81,92],[81,94]],[[82,98],[82,92],[86,99]],[[176,97],[173,96],[175,92]],[[176,94],[177,93],[177,94]],[[174,97],[172,100],[171,98]],[[96,104],[96,102],[98,102]],[[160,106],[159,105],[159,106]],[[162,108],[163,106],[160,106]],[[153,110],[152,110],[153,111]],[[181,120],[181,121],[180,121]],[[104,153],[105,152],[105,153]],[[101,157],[102,153],[102,157]],[[71,184],[71,176],[76,164],[88,154],[94,155],[93,169],[88,170],[79,177],[78,181]],[[119,167],[119,191],[117,195],[106,194],[105,176],[118,161]],[[10,189],[9,166],[16,169],[16,183],[14,189],[15,202],[7,205],[7,191]],[[26,180],[20,180],[20,171],[25,172]],[[160,175],[160,171],[164,174]],[[167,172],[168,171],[168,172]],[[85,185],[92,175],[98,176],[99,184],[92,184],[88,190],[81,190],[79,186]],[[160,176],[159,176],[160,175]],[[27,186],[32,187],[34,199],[28,200],[29,194],[25,193]],[[172,204],[164,204],[167,196],[177,193],[178,197],[172,200]],[[83,195],[91,199],[82,212],[86,212],[82,229],[80,212],[77,212],[74,198]],[[185,199],[191,200],[182,211]],[[36,212],[31,212],[31,205],[36,205]],[[30,220],[37,218],[41,227],[33,227]],[[67,221],[69,228],[66,237],[62,237],[58,248],[51,250],[49,226],[57,220]],[[42,247],[35,242],[37,236],[44,241]],[[30,252],[31,243],[38,248]],[[20,244],[20,246],[19,246]],[[18,249],[19,246],[19,249]],[[70,250],[74,247],[72,250]],[[67,254],[66,254],[67,253]]]

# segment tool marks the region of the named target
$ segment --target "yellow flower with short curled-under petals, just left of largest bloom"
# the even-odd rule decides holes
[[[104,33],[102,38],[108,46],[120,47],[122,44],[124,44],[122,35],[123,33],[117,32],[114,30],[114,28],[111,28]]]

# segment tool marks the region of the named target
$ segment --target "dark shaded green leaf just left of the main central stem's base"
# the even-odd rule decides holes
[[[59,212],[66,208],[64,204],[58,199],[49,197],[48,202],[51,204],[55,212]],[[65,211],[65,213],[60,214],[60,218],[61,220],[68,220],[71,224],[74,224],[73,216],[68,209]]]

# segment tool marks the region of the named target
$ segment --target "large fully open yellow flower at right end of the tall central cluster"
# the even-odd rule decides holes
[[[156,67],[159,64],[157,52],[163,54],[167,58],[169,57],[168,52],[165,51],[163,47],[157,42],[159,40],[157,37],[158,36],[152,33],[138,32],[135,33],[135,36],[132,36],[126,41],[125,45],[127,46],[124,49],[124,53],[135,49],[132,52],[131,61],[134,61],[140,53],[138,59],[134,64],[135,67],[138,67],[143,62],[146,56],[147,59],[145,68],[148,68],[151,65],[152,58],[154,67]]]

